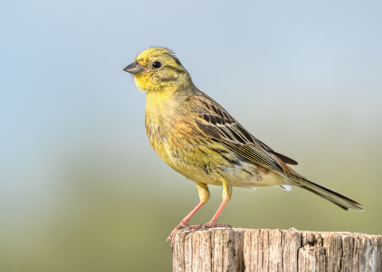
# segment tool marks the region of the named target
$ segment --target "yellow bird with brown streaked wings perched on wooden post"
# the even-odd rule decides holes
[[[289,165],[298,163],[256,139],[218,102],[199,90],[175,53],[150,46],[139,53],[124,71],[133,74],[139,90],[146,93],[146,133],[156,154],[173,170],[196,184],[200,202],[172,230],[231,227],[217,224],[232,187],[254,189],[298,186],[344,210],[363,211],[363,205],[322,184],[305,178]],[[188,221],[210,198],[208,185],[223,187],[223,201],[205,224]]]

